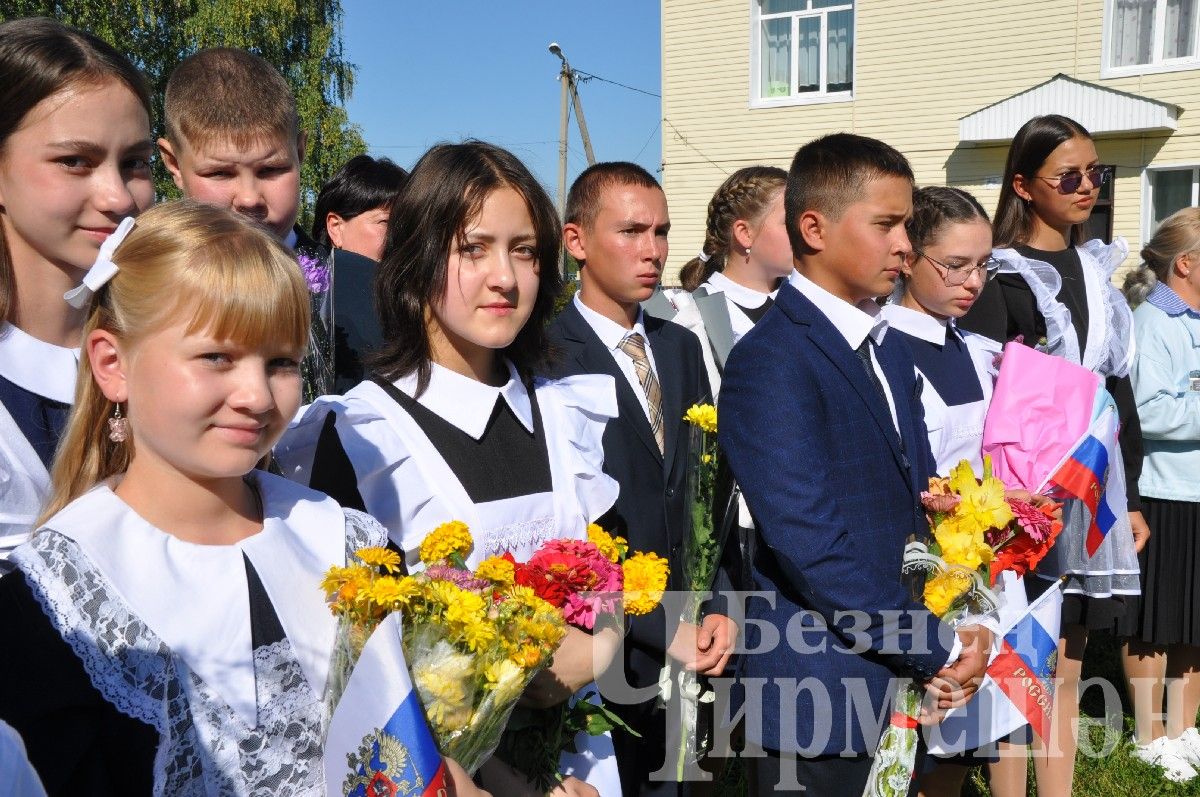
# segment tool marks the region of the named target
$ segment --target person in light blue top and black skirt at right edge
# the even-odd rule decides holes
[[[1138,755],[1184,780],[1200,767],[1200,208],[1169,216],[1126,277],[1136,305],[1133,388],[1146,435],[1139,489],[1154,529],[1139,611],[1118,623]],[[1134,687],[1136,684],[1136,688]],[[1146,685],[1148,684],[1148,688]],[[1169,685],[1168,685],[1169,684]],[[1164,712],[1165,691],[1165,721]],[[1171,761],[1174,753],[1187,767]],[[1175,766],[1169,766],[1174,763]]]

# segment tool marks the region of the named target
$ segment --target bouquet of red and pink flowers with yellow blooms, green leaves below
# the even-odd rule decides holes
[[[667,586],[666,559],[655,553],[630,553],[624,538],[595,523],[588,526],[587,541],[551,540],[514,568],[516,583],[528,586],[559,609],[568,623],[588,631],[617,622],[622,605],[628,615],[652,612]],[[617,727],[637,735],[594,694],[574,705],[518,708],[498,755],[538,789],[550,791],[562,780],[559,756],[578,751],[575,738],[580,732],[599,736]]]

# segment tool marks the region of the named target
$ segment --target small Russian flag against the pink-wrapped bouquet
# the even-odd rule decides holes
[[[1116,456],[1118,429],[1116,405],[1105,391],[1098,394],[1097,405],[1097,412],[1087,432],[1046,479],[1052,486],[1054,497],[1078,498],[1091,513],[1092,521],[1084,543],[1088,556],[1096,555],[1112,525],[1116,523],[1116,513],[1110,505],[1112,501],[1116,498],[1122,505],[1124,504],[1124,496],[1115,495],[1123,493],[1123,490],[1120,487],[1109,490],[1114,477],[1110,466],[1120,462]]]

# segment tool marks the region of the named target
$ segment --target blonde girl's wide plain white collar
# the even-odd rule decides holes
[[[74,540],[163,641],[251,727],[257,725],[245,556],[254,565],[305,679],[319,697],[337,623],[320,580],[346,563],[346,519],[331,498],[252,472],[263,531],[235,545],[196,545],[162,532],[101,484],[43,528]]]

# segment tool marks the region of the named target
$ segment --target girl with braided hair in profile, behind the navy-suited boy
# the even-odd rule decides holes
[[[721,184],[708,203],[704,245],[679,271],[683,289],[652,298],[646,310],[696,332],[715,397],[730,349],[774,302],[792,272],[784,218],[787,172],[748,166]]]

